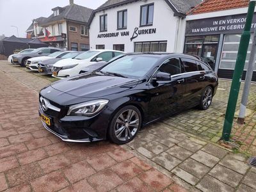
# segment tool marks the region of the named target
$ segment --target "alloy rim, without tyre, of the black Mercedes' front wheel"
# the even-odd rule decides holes
[[[115,122],[115,136],[120,141],[127,141],[134,137],[139,129],[140,117],[132,109],[122,112]]]

